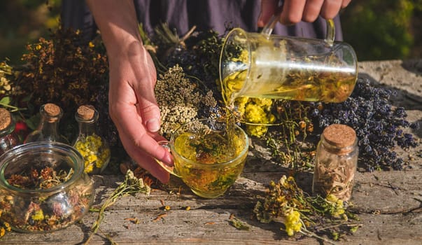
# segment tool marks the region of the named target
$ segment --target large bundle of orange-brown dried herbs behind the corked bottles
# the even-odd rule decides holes
[[[11,92],[12,103],[26,108],[23,117],[34,130],[36,115],[45,103],[64,110],[60,132],[67,139],[77,134],[73,115],[82,104],[99,110],[99,125],[111,145],[118,144],[117,132],[108,116],[108,60],[101,38],[84,42],[79,31],[58,28],[50,36],[27,45],[24,65],[17,72]]]

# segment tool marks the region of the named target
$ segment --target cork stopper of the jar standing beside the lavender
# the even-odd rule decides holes
[[[328,144],[338,148],[344,148],[352,146],[355,143],[356,132],[347,125],[333,124],[325,128],[323,137]]]

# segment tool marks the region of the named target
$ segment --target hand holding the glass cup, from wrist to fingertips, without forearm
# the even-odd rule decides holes
[[[127,153],[162,183],[167,173],[154,158],[171,164],[171,156],[157,141],[160,109],[154,97],[157,74],[141,43],[132,43],[123,57],[110,59],[109,112]]]

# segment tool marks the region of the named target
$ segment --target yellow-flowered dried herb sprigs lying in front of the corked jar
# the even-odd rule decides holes
[[[283,223],[287,235],[296,233],[333,240],[354,232],[360,225],[353,223],[357,217],[346,210],[346,204],[334,196],[327,198],[304,193],[290,176],[283,176],[278,183],[272,181],[264,200],[260,200],[253,210],[262,223],[278,221]]]

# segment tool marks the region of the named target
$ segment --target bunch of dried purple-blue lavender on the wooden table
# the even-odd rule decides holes
[[[376,169],[402,169],[405,161],[393,148],[406,149],[418,146],[412,134],[403,130],[416,128],[406,120],[402,107],[395,108],[390,99],[395,93],[382,87],[374,87],[366,78],[359,78],[351,97],[342,103],[324,104],[315,109],[311,116],[319,127],[334,123],[353,127],[359,139],[360,163],[372,172]]]

